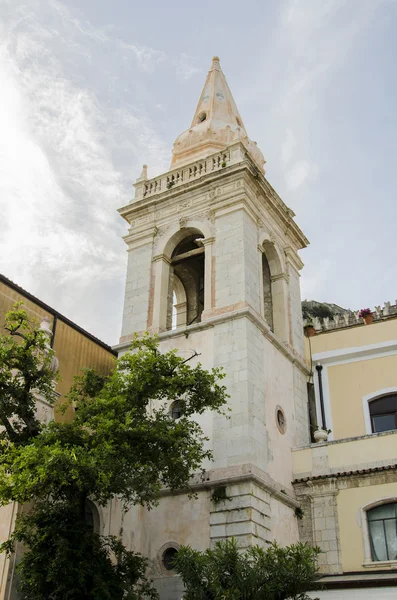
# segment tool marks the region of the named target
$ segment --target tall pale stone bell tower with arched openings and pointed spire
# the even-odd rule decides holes
[[[308,242],[264,163],[214,57],[170,170],[149,179],[144,166],[120,209],[129,225],[120,353],[135,332],[157,333],[164,350],[195,349],[204,367],[222,366],[230,394],[229,418],[199,417],[215,460],[197,498],[164,491],[156,509],[124,521],[164,599],[178,597],[170,548],[298,540],[291,448],[309,443],[298,256]]]

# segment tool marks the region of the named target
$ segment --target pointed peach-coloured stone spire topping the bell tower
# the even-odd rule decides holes
[[[205,158],[238,140],[263,172],[262,152],[249,139],[219,58],[214,56],[190,129],[175,140],[171,168]]]

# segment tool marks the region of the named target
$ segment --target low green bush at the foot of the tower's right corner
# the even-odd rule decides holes
[[[319,548],[293,544],[242,553],[235,539],[199,552],[182,547],[175,558],[186,591],[184,600],[306,600],[316,586]]]

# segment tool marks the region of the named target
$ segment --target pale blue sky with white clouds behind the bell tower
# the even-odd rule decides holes
[[[109,344],[142,165],[219,55],[310,240],[302,298],[397,297],[397,0],[0,0],[0,272]]]

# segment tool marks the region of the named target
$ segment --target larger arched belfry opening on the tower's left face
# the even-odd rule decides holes
[[[171,255],[167,329],[200,323],[204,310],[202,234],[188,233]]]

